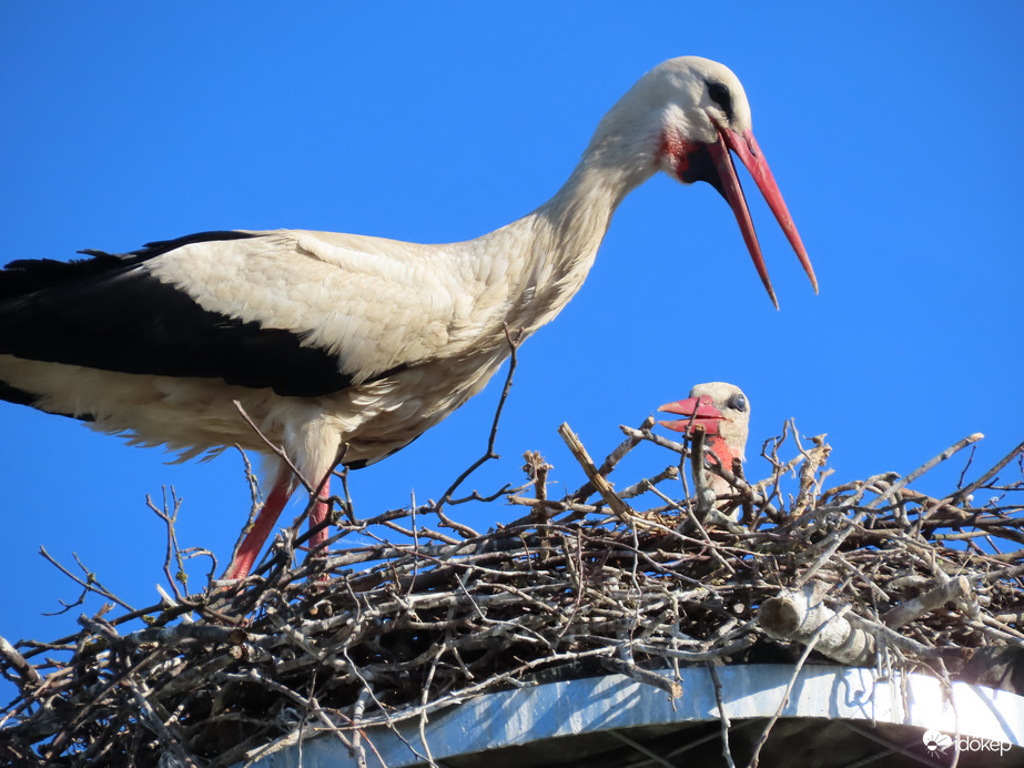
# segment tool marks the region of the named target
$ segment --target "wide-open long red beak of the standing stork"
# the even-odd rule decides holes
[[[740,186],[740,180],[736,175],[736,166],[732,164],[732,155],[729,154],[729,150],[736,152],[737,156],[743,162],[743,165],[747,166],[750,175],[753,176],[758,189],[761,190],[761,194],[764,195],[764,200],[768,202],[768,206],[771,209],[772,213],[775,214],[779,225],[782,228],[782,231],[785,232],[787,239],[797,252],[797,256],[803,265],[803,271],[807,272],[808,277],[811,279],[814,293],[818,293],[818,279],[814,276],[814,269],[811,266],[811,260],[808,257],[807,249],[803,247],[803,242],[800,240],[800,234],[797,232],[797,225],[793,224],[793,219],[785,208],[782,193],[779,191],[779,185],[775,184],[775,179],[771,174],[771,169],[768,168],[768,161],[764,160],[761,148],[758,146],[758,142],[753,138],[753,132],[747,130],[740,134],[728,128],[719,127],[718,141],[708,144],[708,151],[711,154],[711,160],[714,163],[719,180],[721,181],[719,191],[724,195],[729,205],[732,208],[732,212],[736,214],[736,220],[740,225],[740,230],[743,232],[743,240],[747,242],[747,249],[750,251],[751,259],[753,259],[753,265],[758,270],[758,274],[761,275],[761,282],[764,283],[764,287],[768,290],[768,295],[771,297],[772,304],[775,305],[777,310],[779,309],[775,292],[772,290],[771,280],[768,277],[768,267],[764,266],[764,259],[761,256],[761,246],[758,243],[758,235],[753,230],[753,222],[750,220],[747,198],[743,196],[743,188]]]

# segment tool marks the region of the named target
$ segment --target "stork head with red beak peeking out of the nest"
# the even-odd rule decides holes
[[[698,384],[687,400],[667,403],[658,411],[685,418],[658,422],[675,432],[689,432],[695,425],[704,428],[708,448],[727,469],[732,459],[743,461],[750,422],[750,403],[740,387],[724,382]]]

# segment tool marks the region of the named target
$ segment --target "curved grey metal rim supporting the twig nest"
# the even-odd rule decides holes
[[[738,665],[718,667],[717,671],[726,713],[732,721],[732,730],[740,734],[759,731],[760,728],[750,725],[756,720],[763,722],[775,714],[793,667]],[[703,667],[687,667],[680,669],[680,676],[683,694],[675,701],[663,690],[621,675],[481,696],[435,713],[424,724],[417,719],[394,728],[367,729],[363,737],[367,766],[414,766],[427,762],[427,756],[438,765],[486,765],[488,768],[506,762],[572,765],[575,759],[587,760],[588,765],[677,765],[659,757],[668,754],[658,751],[665,748],[667,736],[673,736],[677,744],[682,739],[697,745],[710,741],[719,728],[709,671]],[[858,738],[880,750],[871,760],[859,758],[860,765],[905,765],[883,759],[886,755],[900,757],[901,749],[904,752],[901,760],[919,761],[927,755],[921,739],[925,730],[1016,747],[1002,756],[965,756],[984,758],[977,765],[1011,766],[1024,760],[1021,750],[1024,747],[1024,697],[954,683],[950,700],[935,678],[909,675],[904,683],[876,680],[872,669],[804,667],[782,710],[783,717],[798,719],[780,721],[779,732],[793,734],[794,728],[802,728],[799,744],[805,751],[814,752],[813,765],[820,766],[855,762],[855,755],[850,751],[853,747],[843,748],[843,737]],[[803,724],[800,722],[802,718],[807,718]],[[697,728],[700,724],[703,730]],[[886,730],[886,724],[902,728]],[[347,735],[351,736],[351,731]],[[753,734],[753,738],[756,736]],[[813,744],[814,736],[820,742],[818,747]],[[896,744],[901,740],[902,745]],[[601,749],[609,744],[628,747],[633,758],[628,761],[619,757],[600,759]],[[645,744],[659,746],[652,749]],[[797,744],[793,741],[794,749]],[[720,744],[710,746],[713,752],[720,752]],[[565,751],[567,749],[569,751]],[[554,757],[558,750],[562,750],[565,759]],[[487,755],[480,756],[483,751]],[[952,749],[949,751],[952,756]],[[473,758],[459,757],[474,754],[477,755]],[[510,762],[503,759],[506,754],[515,758]],[[929,755],[931,765],[949,765],[949,759],[942,764],[935,762],[935,757]],[[961,765],[972,764],[974,760],[961,760]],[[325,734],[305,740],[301,748],[296,745],[283,747],[251,765],[258,768],[298,768],[300,765],[302,768],[338,768],[355,767],[357,762],[336,736]]]

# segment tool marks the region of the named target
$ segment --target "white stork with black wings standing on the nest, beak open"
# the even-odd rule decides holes
[[[778,307],[730,150],[817,291],[742,85],[719,63],[683,57],[611,108],[554,198],[476,240],[224,231],[13,262],[0,277],[0,397],[184,458],[229,445],[268,453],[237,402],[326,493],[342,446],[349,467],[379,461],[479,392],[509,354],[505,329],[526,337],[558,314],[616,206],[657,171],[721,192]],[[227,577],[249,573],[297,485],[286,462],[270,459],[271,491]],[[325,515],[316,505],[311,525]]]

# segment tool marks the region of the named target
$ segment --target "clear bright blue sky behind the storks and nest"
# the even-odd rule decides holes
[[[750,454],[792,417],[828,433],[837,483],[908,473],[973,432],[980,473],[1024,439],[1024,7],[297,6],[0,4],[2,260],[233,228],[473,238],[550,196],[645,71],[699,54],[744,83],[821,295],[749,176],[780,312],[724,201],[656,178],[520,351],[504,458],[470,486],[518,481],[537,449],[576,487],[561,422],[600,457],[618,424],[716,380],[750,397]],[[355,473],[357,512],[439,496],[483,452],[499,391]],[[0,404],[0,635],[74,629],[81,608],[40,616],[77,595],[41,545],[136,607],[156,602],[164,530],[144,497],[162,486],[183,499],[181,543],[223,565],[249,508],[240,458],[166,458]],[[917,487],[941,495],[962,465]],[[486,528],[519,513],[464,514]]]

